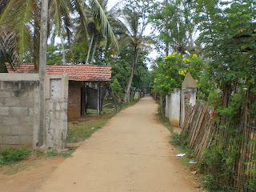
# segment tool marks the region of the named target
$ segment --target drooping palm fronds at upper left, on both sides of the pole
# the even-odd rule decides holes
[[[86,31],[86,38],[89,38],[88,22],[82,0],[50,0],[49,5],[50,29],[48,30],[48,38],[50,37],[50,31],[57,31],[58,35],[61,31],[64,31],[70,42],[70,29],[72,29],[70,13],[74,10],[79,14],[79,21],[82,22]],[[33,55],[36,70],[38,70],[40,39],[40,6],[38,0],[10,0],[0,18],[1,27],[6,27],[16,35],[17,42],[14,44],[14,52],[19,53],[20,59],[24,58],[26,54]],[[91,0],[91,6],[94,18],[98,19],[102,33],[115,47],[118,47],[104,10],[102,10],[97,0]],[[70,48],[70,50],[72,49]]]

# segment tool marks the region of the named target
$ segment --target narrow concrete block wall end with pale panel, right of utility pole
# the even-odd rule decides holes
[[[66,148],[67,135],[67,75],[46,75],[46,142],[51,148]]]

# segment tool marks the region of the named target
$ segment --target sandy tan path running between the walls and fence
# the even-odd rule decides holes
[[[39,191],[198,191],[175,157],[170,132],[155,121],[156,110],[146,97],[111,118]]]

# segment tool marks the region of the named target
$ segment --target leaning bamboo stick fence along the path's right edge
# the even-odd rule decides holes
[[[256,191],[256,189],[248,189],[249,180],[256,183],[254,173],[248,171],[256,169],[256,145],[252,142],[256,139],[255,117],[246,119],[248,123],[240,122],[238,125],[226,127],[225,118],[211,117],[208,109],[207,103],[188,107],[182,125],[182,131],[188,133],[188,143],[194,150],[198,162],[202,160],[204,151],[213,140],[217,145],[222,145],[224,151],[238,147],[237,158],[233,165],[234,174],[230,175],[230,182],[239,192]],[[238,137],[238,143],[230,143]]]

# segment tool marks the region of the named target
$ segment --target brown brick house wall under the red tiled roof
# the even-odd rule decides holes
[[[81,117],[81,88],[83,82],[69,82],[68,119]]]

